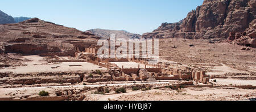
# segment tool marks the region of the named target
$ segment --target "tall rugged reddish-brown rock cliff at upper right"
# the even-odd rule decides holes
[[[256,0],[205,0],[185,19],[178,23],[163,23],[142,37],[228,38],[231,32],[244,32],[255,18]]]

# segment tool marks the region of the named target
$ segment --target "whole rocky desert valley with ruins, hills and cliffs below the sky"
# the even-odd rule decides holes
[[[143,35],[0,12],[0,101],[255,101],[256,1],[205,0]],[[159,61],[99,58],[98,40],[159,39]],[[115,49],[119,46],[115,45]]]

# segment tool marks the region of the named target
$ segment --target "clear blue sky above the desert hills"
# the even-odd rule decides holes
[[[203,0],[1,0],[13,17],[37,17],[86,31],[93,28],[146,33],[184,19]]]

